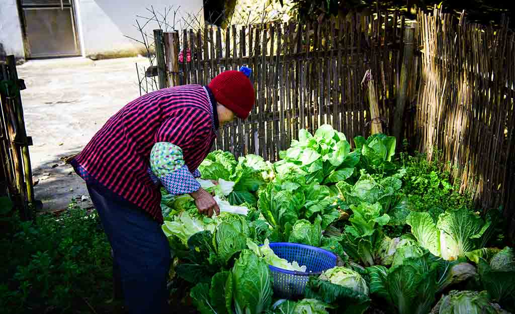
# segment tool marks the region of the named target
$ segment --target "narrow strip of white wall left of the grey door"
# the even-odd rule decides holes
[[[6,55],[25,58],[22,28],[16,0],[0,0],[0,44]],[[0,51],[3,54],[4,51]]]

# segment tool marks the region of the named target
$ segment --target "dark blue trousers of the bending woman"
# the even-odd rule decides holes
[[[88,185],[113,254],[113,275],[121,283],[131,314],[167,311],[170,248],[161,224],[129,202]]]

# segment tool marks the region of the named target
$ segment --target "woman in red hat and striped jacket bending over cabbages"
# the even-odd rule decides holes
[[[166,312],[168,241],[161,230],[160,186],[190,194],[198,211],[218,213],[197,167],[218,128],[245,119],[254,104],[250,69],[226,71],[208,86],[162,89],[113,115],[72,161],[87,184],[113,252],[115,280],[130,313]]]

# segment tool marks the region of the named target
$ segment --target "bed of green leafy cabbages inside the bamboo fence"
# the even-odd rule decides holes
[[[219,216],[201,216],[191,197],[163,190],[171,286],[186,286],[184,302],[202,314],[515,309],[515,257],[499,211],[477,212],[436,165],[395,156],[394,137],[358,136],[352,150],[324,125],[298,138],[273,164],[210,153],[202,178],[220,184],[201,184],[216,195]],[[269,242],[331,251],[337,266],[312,276],[302,298],[279,299],[269,265],[305,269]]]

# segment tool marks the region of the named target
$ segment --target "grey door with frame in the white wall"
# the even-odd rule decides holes
[[[21,0],[28,58],[80,56],[73,0]]]

